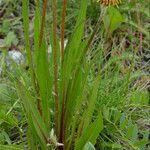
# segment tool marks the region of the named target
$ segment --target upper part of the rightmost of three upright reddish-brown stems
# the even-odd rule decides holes
[[[63,61],[63,55],[64,55],[66,6],[67,6],[67,0],[63,0],[62,25],[61,25],[61,62]]]

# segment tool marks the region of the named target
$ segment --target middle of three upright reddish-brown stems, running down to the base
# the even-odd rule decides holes
[[[57,4],[56,0],[52,1],[52,11],[53,11],[53,55],[54,55],[54,92],[55,92],[55,126],[56,126],[56,135],[58,136],[58,64],[57,64]]]

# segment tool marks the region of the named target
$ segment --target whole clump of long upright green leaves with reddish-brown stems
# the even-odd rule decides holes
[[[68,150],[83,149],[88,142],[95,144],[103,129],[101,112],[98,112],[93,120],[100,77],[92,76],[89,82],[93,62],[86,59],[88,48],[98,27],[95,27],[89,39],[82,41],[87,0],[81,1],[74,33],[63,50],[65,1],[63,6],[60,61],[56,35],[56,1],[52,2],[53,57],[48,56],[44,36],[47,1],[43,2],[42,18],[38,1],[36,3],[33,52],[29,41],[29,1],[23,1],[24,37],[32,86],[28,86],[27,79],[23,79],[21,74],[19,75],[21,78],[16,78],[16,86],[28,122],[28,140],[31,149],[45,150],[55,147]],[[54,114],[50,113],[50,109]]]

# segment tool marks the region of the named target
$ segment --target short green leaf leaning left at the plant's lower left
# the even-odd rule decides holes
[[[34,103],[33,97],[27,91],[26,87],[21,83],[17,83],[18,95],[23,102],[25,112],[27,115],[28,123],[32,128],[32,132],[36,131],[40,139],[40,143],[46,147],[46,140],[48,139],[48,130],[46,128],[45,122],[41,118],[41,115]]]

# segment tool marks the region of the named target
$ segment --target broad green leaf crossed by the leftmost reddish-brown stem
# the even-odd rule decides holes
[[[37,4],[35,17],[34,17],[34,64],[35,64],[35,74],[38,80],[38,88],[39,88],[39,95],[40,95],[40,102],[41,102],[41,110],[44,122],[46,123],[47,128],[50,127],[50,96],[51,96],[51,76],[49,72],[49,62],[48,62],[48,52],[47,52],[47,45],[45,42],[45,37],[43,37],[42,44],[39,45],[39,37],[40,37],[40,25],[41,25],[41,16],[40,15],[40,8]],[[50,129],[49,129],[50,131]]]

